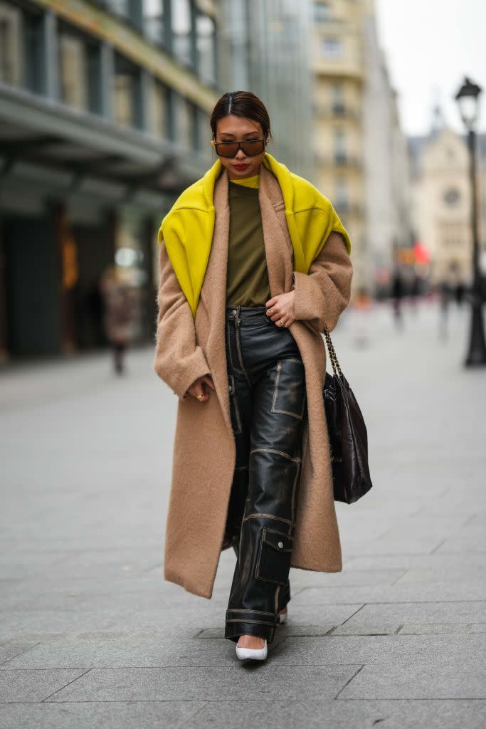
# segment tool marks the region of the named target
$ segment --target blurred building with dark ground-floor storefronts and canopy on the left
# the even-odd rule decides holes
[[[211,0],[0,0],[0,352],[105,343],[113,262],[154,330],[155,233],[211,165]]]

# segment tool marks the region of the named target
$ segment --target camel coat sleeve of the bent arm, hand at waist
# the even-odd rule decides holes
[[[307,320],[319,332],[331,332],[348,306],[352,277],[344,238],[332,231],[309,272],[294,272],[295,318]]]

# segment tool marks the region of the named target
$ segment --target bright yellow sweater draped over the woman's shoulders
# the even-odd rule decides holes
[[[269,152],[265,152],[263,164],[273,172],[282,190],[287,225],[294,246],[294,270],[307,273],[332,230],[342,234],[350,254],[350,237],[329,198],[322,195],[311,182],[275,160]],[[159,243],[163,238],[193,316],[196,316],[213,241],[216,217],[214,183],[223,170],[221,161],[217,159],[203,177],[181,192],[162,219],[157,236]]]

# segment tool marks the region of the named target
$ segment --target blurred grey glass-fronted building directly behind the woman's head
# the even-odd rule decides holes
[[[270,114],[268,151],[312,179],[312,0],[220,0],[220,82],[251,90]]]

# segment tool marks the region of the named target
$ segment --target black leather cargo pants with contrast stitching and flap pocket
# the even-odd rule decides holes
[[[289,569],[307,418],[305,370],[265,306],[227,305],[226,354],[235,475],[226,538],[237,553],[225,637],[271,643],[290,599]]]

